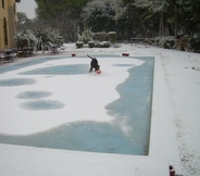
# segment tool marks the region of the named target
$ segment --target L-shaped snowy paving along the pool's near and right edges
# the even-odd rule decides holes
[[[23,61],[18,60],[17,62]],[[167,93],[160,95],[162,92],[160,91],[161,89],[166,89],[163,84],[164,75],[160,64],[160,58],[155,56],[148,156],[0,144],[0,175],[168,176],[168,165],[174,165],[176,173],[180,173],[178,152],[174,152],[177,151],[177,147],[176,144],[170,146],[175,140],[175,136],[171,131],[167,131],[166,127],[173,123],[170,118],[171,114],[167,114],[170,111],[166,110],[164,116],[158,111],[168,103]],[[168,151],[168,149],[172,150]]]

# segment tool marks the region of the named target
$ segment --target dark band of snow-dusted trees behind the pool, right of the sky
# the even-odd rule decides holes
[[[70,41],[76,41],[77,28],[83,29],[85,26],[92,26],[95,33],[116,32],[120,40],[158,35],[182,37],[200,30],[199,2],[199,0],[36,0],[36,13],[40,20],[47,20],[50,27],[57,28]]]

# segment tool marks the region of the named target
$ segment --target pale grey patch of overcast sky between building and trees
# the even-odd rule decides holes
[[[16,3],[17,12],[26,13],[28,18],[34,18],[36,2],[35,0],[21,0],[20,3]]]

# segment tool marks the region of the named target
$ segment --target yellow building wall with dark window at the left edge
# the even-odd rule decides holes
[[[16,2],[21,0],[0,0],[0,50],[15,47]]]

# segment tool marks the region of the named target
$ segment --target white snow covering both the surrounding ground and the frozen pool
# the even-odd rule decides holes
[[[199,54],[183,52],[177,50],[161,49],[152,46],[142,45],[120,45],[118,48],[109,49],[76,49],[74,43],[66,45],[66,50],[60,55],[70,56],[76,53],[77,56],[89,54],[115,54],[123,52],[130,56],[152,55],[155,56],[154,84],[152,102],[152,122],[149,156],[100,154],[89,152],[73,152],[63,150],[38,149],[29,147],[16,147],[0,144],[0,175],[25,176],[25,175],[132,175],[132,176],[166,176],[167,164],[174,165],[177,174],[184,176],[200,175],[200,62]],[[42,55],[34,56],[30,60],[39,59]],[[29,59],[27,59],[28,61]],[[122,61],[133,66],[142,64],[139,60],[122,58],[112,60]],[[25,62],[18,60],[17,62]],[[40,66],[60,65],[68,63],[88,63],[82,58],[72,60],[59,60],[40,64]],[[102,75],[71,75],[51,77],[53,83],[45,76],[29,76],[37,78],[39,84],[32,86],[20,86],[14,89],[1,87],[0,89],[0,133],[13,135],[26,135],[52,128],[63,123],[80,121],[80,115],[87,113],[83,120],[107,121],[112,120],[103,109],[105,104],[118,98],[115,91],[116,85],[124,81],[128,74],[128,67],[112,67],[111,60],[99,60]],[[15,63],[13,63],[15,64]],[[38,67],[37,65],[30,66]],[[29,70],[30,67],[23,68]],[[118,71],[120,70],[120,71]],[[14,77],[27,77],[27,75],[16,75],[18,71],[12,71],[0,75],[0,79]],[[121,74],[118,74],[118,72]],[[89,77],[90,76],[90,77]],[[88,80],[96,90],[101,87],[98,97],[88,99]],[[73,77],[73,79],[72,79]],[[64,79],[64,80],[63,80]],[[71,83],[73,86],[67,85]],[[58,86],[62,83],[62,86]],[[39,86],[38,86],[39,85]],[[107,85],[107,86],[104,86]],[[97,86],[97,87],[96,87]],[[27,88],[28,87],[28,88]],[[18,106],[24,100],[15,97],[22,91],[28,90],[52,91],[51,99],[59,100],[68,106],[65,109],[33,112],[23,110]],[[79,93],[82,100],[77,102],[78,112],[74,112],[71,104],[75,89],[82,89],[85,93]],[[66,99],[67,97],[67,99]],[[93,105],[101,117],[93,118],[92,112],[85,109],[95,102]],[[49,99],[49,98],[48,98]],[[101,106],[102,109],[99,109]],[[71,117],[59,116],[59,113],[71,114]],[[14,115],[13,115],[14,114]],[[43,116],[45,115],[45,116]],[[57,118],[54,118],[57,116]],[[168,162],[168,163],[167,163]]]

